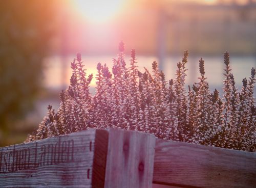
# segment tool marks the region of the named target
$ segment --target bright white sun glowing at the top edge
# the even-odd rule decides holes
[[[125,0],[75,0],[77,10],[92,23],[111,20],[121,8]]]

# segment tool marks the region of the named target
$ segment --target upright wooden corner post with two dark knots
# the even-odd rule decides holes
[[[105,188],[151,188],[155,137],[138,131],[109,129]]]

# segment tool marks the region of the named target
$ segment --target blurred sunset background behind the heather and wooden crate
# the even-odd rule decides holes
[[[228,50],[241,89],[256,66],[256,1],[0,0],[0,146],[22,143],[48,104],[58,109],[77,52],[95,76],[98,62],[112,66],[121,40],[127,63],[135,48],[140,70],[157,61],[167,79],[188,49],[186,86],[203,57],[211,91],[222,90]]]

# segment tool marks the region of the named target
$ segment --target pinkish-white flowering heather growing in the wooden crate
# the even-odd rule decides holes
[[[229,53],[224,53],[225,79],[223,98],[216,89],[210,92],[199,60],[199,82],[185,88],[188,51],[177,64],[176,77],[165,80],[156,62],[152,72],[137,66],[135,50],[130,66],[124,61],[124,44],[113,59],[112,72],[98,63],[96,93],[89,92],[92,74],[78,53],[71,63],[70,86],[60,92],[57,112],[48,106],[48,114],[27,142],[90,128],[123,128],[154,134],[166,140],[176,140],[208,146],[255,151],[256,107],[253,98],[255,68],[243,79],[239,92],[231,73]]]

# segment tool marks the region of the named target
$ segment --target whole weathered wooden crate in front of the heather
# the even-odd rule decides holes
[[[91,129],[0,148],[1,188],[144,188],[153,183],[256,187],[256,153],[122,129]]]

